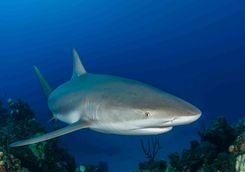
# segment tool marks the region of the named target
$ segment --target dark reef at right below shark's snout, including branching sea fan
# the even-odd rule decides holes
[[[141,141],[147,157],[135,172],[244,172],[245,119],[230,126],[224,117],[216,118],[206,129],[199,131],[200,141],[193,140],[182,153],[174,152],[169,161],[155,160],[160,148],[158,138]],[[149,154],[151,156],[149,156]]]

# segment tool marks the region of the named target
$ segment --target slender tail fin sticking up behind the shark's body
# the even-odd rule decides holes
[[[40,70],[34,65],[33,66],[36,77],[41,85],[41,88],[43,90],[43,93],[45,95],[46,100],[48,99],[50,93],[52,92],[52,88],[50,87],[49,83],[47,82],[47,80],[43,77],[43,75],[41,74]]]

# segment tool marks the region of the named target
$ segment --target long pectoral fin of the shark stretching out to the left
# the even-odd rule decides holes
[[[10,147],[17,147],[17,146],[24,146],[24,145],[29,145],[29,144],[33,144],[33,143],[38,143],[38,142],[42,142],[42,141],[46,141],[49,139],[53,139],[68,133],[71,133],[73,131],[82,129],[82,128],[87,128],[89,127],[89,124],[87,122],[81,122],[78,121],[76,123],[73,123],[71,125],[68,125],[67,127],[61,128],[59,130],[38,136],[38,137],[34,137],[31,139],[27,139],[27,140],[20,140],[17,142],[14,142],[12,144],[10,144]]]

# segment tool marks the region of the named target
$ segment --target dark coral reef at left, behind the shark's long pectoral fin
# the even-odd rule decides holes
[[[46,133],[23,101],[0,102],[0,172],[74,172],[74,158],[58,146],[58,140],[10,148],[9,143]]]

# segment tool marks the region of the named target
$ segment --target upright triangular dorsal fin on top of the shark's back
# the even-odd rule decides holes
[[[73,57],[73,74],[72,79],[75,79],[83,74],[86,74],[86,70],[84,69],[80,57],[77,51],[73,48],[72,49],[72,57]]]

